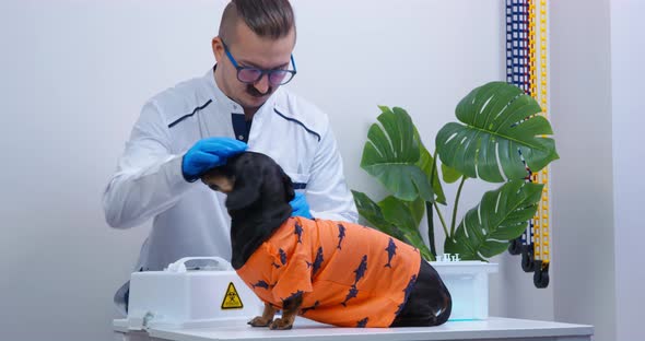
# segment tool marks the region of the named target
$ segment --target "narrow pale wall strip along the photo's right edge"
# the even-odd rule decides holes
[[[611,2],[611,111],[613,136],[613,209],[615,247],[617,340],[643,338],[641,316],[645,302],[642,259],[643,145],[645,119],[642,96],[645,79],[645,3]]]

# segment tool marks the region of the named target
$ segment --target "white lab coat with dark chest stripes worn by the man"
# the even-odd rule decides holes
[[[187,183],[181,157],[209,137],[248,140],[304,191],[315,217],[356,222],[342,160],[325,113],[283,87],[256,113],[248,136],[242,107],[216,86],[213,70],[151,98],[103,195],[107,223],[128,228],[153,219],[136,270],[162,270],[188,256],[231,259],[225,196]],[[124,303],[127,283],[115,295]]]

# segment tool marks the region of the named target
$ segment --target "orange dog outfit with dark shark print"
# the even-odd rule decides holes
[[[298,315],[343,327],[389,327],[414,286],[412,246],[347,222],[290,217],[237,270],[266,303],[302,294]]]

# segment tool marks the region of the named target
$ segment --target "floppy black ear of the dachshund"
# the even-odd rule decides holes
[[[238,167],[235,186],[226,197],[226,209],[239,210],[250,205],[260,198],[262,176],[258,167]]]

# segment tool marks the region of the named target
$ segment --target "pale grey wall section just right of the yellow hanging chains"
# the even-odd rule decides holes
[[[610,1],[551,1],[550,13],[555,319],[617,340]]]

